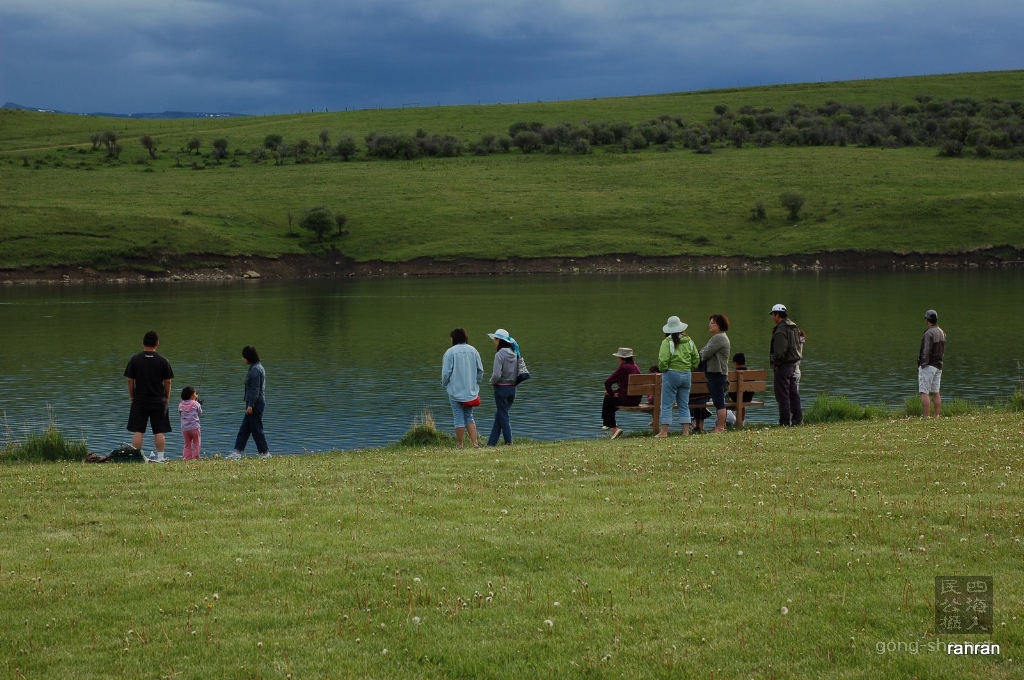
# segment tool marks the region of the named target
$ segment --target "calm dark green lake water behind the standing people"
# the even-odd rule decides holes
[[[480,350],[484,381],[494,356],[485,334],[502,327],[519,341],[534,378],[513,408],[516,435],[604,436],[602,382],[615,368],[617,347],[633,347],[646,371],[670,314],[690,324],[700,347],[708,314],[724,312],[733,352],[762,368],[775,302],[786,304],[808,334],[805,405],[821,391],[863,402],[915,395],[929,307],[948,336],[943,396],[1005,398],[1024,363],[1022,284],[1021,270],[942,270],[4,287],[0,439],[38,431],[52,418],[87,438],[91,451],[128,441],[122,375],[151,329],[175,372],[168,443],[174,457],[181,452],[178,393],[186,384],[205,401],[204,456],[231,450],[244,410],[246,344],[259,349],[266,368],[265,424],[274,453],[387,444],[425,408],[451,431],[440,358],[457,326]],[[481,395],[476,418],[485,436],[490,388]],[[770,394],[768,400],[750,412],[751,421],[775,420]],[[647,420],[627,414],[620,424],[641,429]],[[147,435],[146,449],[151,441]]]

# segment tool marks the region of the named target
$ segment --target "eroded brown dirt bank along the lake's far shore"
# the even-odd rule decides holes
[[[217,263],[210,265],[210,257]],[[204,258],[206,261],[197,263]],[[505,260],[420,257],[403,262],[357,262],[333,252],[328,255],[282,255],[276,258],[241,255],[182,256],[127,262],[119,268],[51,266],[0,270],[0,285],[132,284],[155,282],[211,282],[232,280],[395,279],[402,277],[460,277],[507,274],[649,274],[731,271],[840,271],[858,269],[958,269],[1019,267],[1024,248],[998,246],[955,253],[835,251],[766,257],[629,253],[587,257],[542,257]]]

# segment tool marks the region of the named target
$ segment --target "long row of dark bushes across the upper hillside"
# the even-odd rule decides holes
[[[414,160],[424,157],[451,158],[464,153],[477,156],[508,153],[518,148],[535,152],[589,154],[594,147],[631,152],[657,146],[692,148],[710,154],[713,145],[822,146],[856,144],[859,146],[899,147],[927,145],[939,148],[943,156],[959,157],[974,147],[981,158],[1024,158],[1024,107],[1019,101],[997,98],[978,101],[969,97],[936,99],[918,95],[911,103],[892,100],[868,110],[859,103],[827,101],[820,107],[794,103],[784,112],[773,108],[744,105],[735,112],[725,104],[715,107],[714,117],[705,123],[690,123],[681,116],[665,114],[633,124],[626,121],[561,122],[553,125],[520,121],[508,128],[508,134],[485,134],[477,141],[464,143],[450,134],[371,132],[364,138],[369,158]],[[122,145],[112,131],[97,132],[91,139],[93,151],[102,146],[106,156],[117,159]],[[139,143],[156,158],[159,141],[142,135]],[[200,154],[202,140],[190,138],[180,152]],[[166,150],[165,150],[166,151]],[[248,155],[254,163],[273,160],[281,165],[288,159],[308,163],[323,159],[349,161],[360,148],[351,135],[342,135],[332,143],[331,132],[322,128],[317,142],[300,138],[290,142],[280,134],[268,134],[263,144]],[[227,156],[227,140],[212,142],[212,156],[219,163]],[[236,156],[246,152],[236,151]]]

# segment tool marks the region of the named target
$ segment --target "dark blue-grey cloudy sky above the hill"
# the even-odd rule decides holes
[[[0,103],[476,103],[1024,68],[1024,0],[0,0]]]

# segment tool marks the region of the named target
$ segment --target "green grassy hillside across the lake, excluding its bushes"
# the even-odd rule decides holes
[[[784,145],[780,138],[769,147],[753,139],[736,147],[720,138],[706,144],[711,154],[673,141],[630,153],[595,144],[587,155],[565,147],[558,155],[526,155],[513,147],[479,157],[384,161],[368,159],[365,143],[372,132],[423,130],[454,135],[471,148],[483,135],[507,135],[517,122],[637,125],[666,116],[695,127],[710,126],[720,105],[784,114],[798,102],[813,110],[839,101],[895,111],[923,94],[1016,103],[1024,99],[1024,72],[225,120],[3,110],[0,266],[120,267],[162,258],[202,263],[218,256],[317,252],[323,247],[298,228],[302,212],[317,205],[348,217],[350,233],[330,245],[356,260],[763,257],[1024,246],[1021,161],[976,158],[971,146],[963,158],[944,158],[923,143],[810,146]],[[1011,115],[1019,117],[1016,105]],[[965,125],[972,121],[967,117]],[[267,135],[280,134],[293,146],[305,138],[315,146],[322,129],[332,143],[353,137],[359,148],[352,161],[312,152],[285,165],[269,156],[261,163],[251,158]],[[120,137],[117,160],[89,141],[106,130]],[[143,134],[158,141],[155,159],[139,143]],[[200,138],[199,155],[186,151],[193,137]],[[219,164],[211,156],[216,138],[227,140]],[[779,203],[787,192],[807,201],[795,221]],[[759,203],[765,218],[752,219]]]

